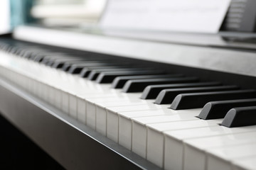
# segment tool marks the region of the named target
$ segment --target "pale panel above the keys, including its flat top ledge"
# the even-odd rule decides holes
[[[113,32],[115,32],[114,35]],[[146,33],[144,31],[137,33],[89,28],[20,26],[14,30],[13,35],[17,40],[76,50],[250,77],[256,75],[254,64],[256,46],[248,43],[253,42],[250,38],[255,35],[247,33],[219,33],[218,35]],[[238,38],[234,39],[233,35],[237,35]],[[245,40],[247,42],[244,42]]]

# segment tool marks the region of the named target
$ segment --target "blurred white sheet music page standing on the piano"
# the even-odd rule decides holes
[[[110,0],[106,28],[218,33],[230,0]]]

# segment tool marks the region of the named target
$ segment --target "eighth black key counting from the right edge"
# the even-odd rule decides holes
[[[132,75],[146,75],[146,74],[163,74],[161,70],[140,70],[140,71],[122,71],[122,72],[102,72],[97,77],[96,82],[99,84],[111,83],[114,78]]]

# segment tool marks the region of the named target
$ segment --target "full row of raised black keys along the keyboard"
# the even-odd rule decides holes
[[[220,82],[200,82],[197,77],[166,74],[161,69],[109,60],[92,52],[85,52],[85,56],[81,57],[81,52],[75,50],[49,51],[38,46],[26,47],[23,44],[21,47],[6,44],[0,47],[28,60],[41,62],[70,74],[79,74],[80,77],[95,80],[100,84],[112,83],[113,89],[122,89],[126,93],[143,91],[142,99],[156,98],[156,104],[171,103],[170,108],[174,110],[203,107],[198,115],[201,119],[226,116],[222,125],[228,127],[256,124],[253,121],[253,106],[256,106],[255,90],[240,90],[238,86],[223,86]],[[243,118],[242,114],[247,118]],[[252,117],[254,119],[247,121]]]

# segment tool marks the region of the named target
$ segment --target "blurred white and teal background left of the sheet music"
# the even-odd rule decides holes
[[[80,26],[100,19],[106,0],[1,0],[0,33],[24,23]]]

